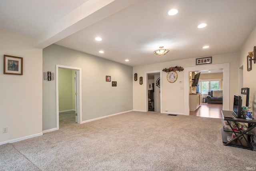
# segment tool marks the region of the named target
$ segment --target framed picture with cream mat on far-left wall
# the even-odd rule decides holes
[[[4,74],[23,75],[23,58],[4,55]]]

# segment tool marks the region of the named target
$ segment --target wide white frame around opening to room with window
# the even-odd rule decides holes
[[[230,64],[214,64],[184,68],[184,115],[189,115],[189,72],[223,69],[223,110],[229,110],[230,99]]]

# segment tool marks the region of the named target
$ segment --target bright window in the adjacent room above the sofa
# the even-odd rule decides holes
[[[199,80],[202,94],[208,94],[210,90],[220,89],[220,79]]]

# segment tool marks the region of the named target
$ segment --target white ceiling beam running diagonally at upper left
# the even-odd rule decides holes
[[[88,0],[36,38],[37,48],[46,48],[140,0]]]

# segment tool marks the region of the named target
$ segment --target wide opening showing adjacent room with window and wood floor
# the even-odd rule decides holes
[[[201,117],[222,118],[222,90],[223,90],[223,69],[203,70],[190,72],[191,82],[195,74],[200,73],[196,87],[190,87],[189,103],[190,115]],[[192,83],[190,82],[190,86]],[[192,91],[193,90],[193,91]],[[216,90],[218,93],[210,93]],[[208,101],[207,96],[214,94],[220,97],[216,101]],[[199,99],[198,99],[199,98]]]

